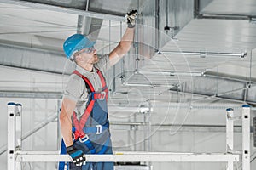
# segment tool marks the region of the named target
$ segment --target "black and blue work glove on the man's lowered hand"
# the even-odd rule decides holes
[[[67,154],[69,156],[71,156],[71,158],[73,159],[73,163],[76,166],[82,166],[84,164],[85,159],[85,155],[84,152],[82,150],[78,150],[74,147],[74,145],[68,146],[66,148],[67,150]]]

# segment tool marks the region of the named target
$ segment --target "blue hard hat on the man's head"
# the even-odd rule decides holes
[[[63,43],[63,50],[67,59],[73,59],[73,54],[83,48],[91,48],[96,42],[91,42],[82,34],[74,34]]]

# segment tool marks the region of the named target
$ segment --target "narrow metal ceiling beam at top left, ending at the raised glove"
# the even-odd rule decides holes
[[[84,11],[84,10],[79,10],[75,8],[65,8],[61,6],[49,5],[49,4],[43,4],[43,3],[32,3],[32,2],[19,1],[19,0],[0,0],[0,3],[15,4],[15,5],[20,5],[20,6],[30,7],[30,8],[45,9],[45,10],[68,13],[68,14],[77,14],[77,15],[83,15],[91,18],[102,19],[102,20],[125,21],[124,16],[113,15],[113,14],[102,14],[102,13]]]

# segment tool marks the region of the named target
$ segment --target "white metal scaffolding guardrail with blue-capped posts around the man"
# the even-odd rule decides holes
[[[88,162],[226,162],[227,169],[233,170],[234,162],[242,160],[242,169],[250,170],[250,106],[242,105],[241,116],[235,117],[233,109],[227,109],[226,115],[226,152],[225,153],[173,153],[119,151],[113,155],[86,155]],[[59,151],[24,151],[21,150],[22,105],[8,104],[8,170],[21,170],[21,162],[58,162],[73,161]],[[242,122],[242,150],[234,150],[234,121]]]

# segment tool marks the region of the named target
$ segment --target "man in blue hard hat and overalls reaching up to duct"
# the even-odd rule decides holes
[[[103,72],[115,65],[131,48],[137,10],[125,15],[128,28],[119,45],[101,59],[95,42],[81,34],[68,37],[63,44],[67,59],[77,68],[69,77],[61,105],[61,133],[67,154],[73,158],[70,169],[112,170],[112,162],[84,164],[84,154],[112,154],[108,123],[108,88]]]

